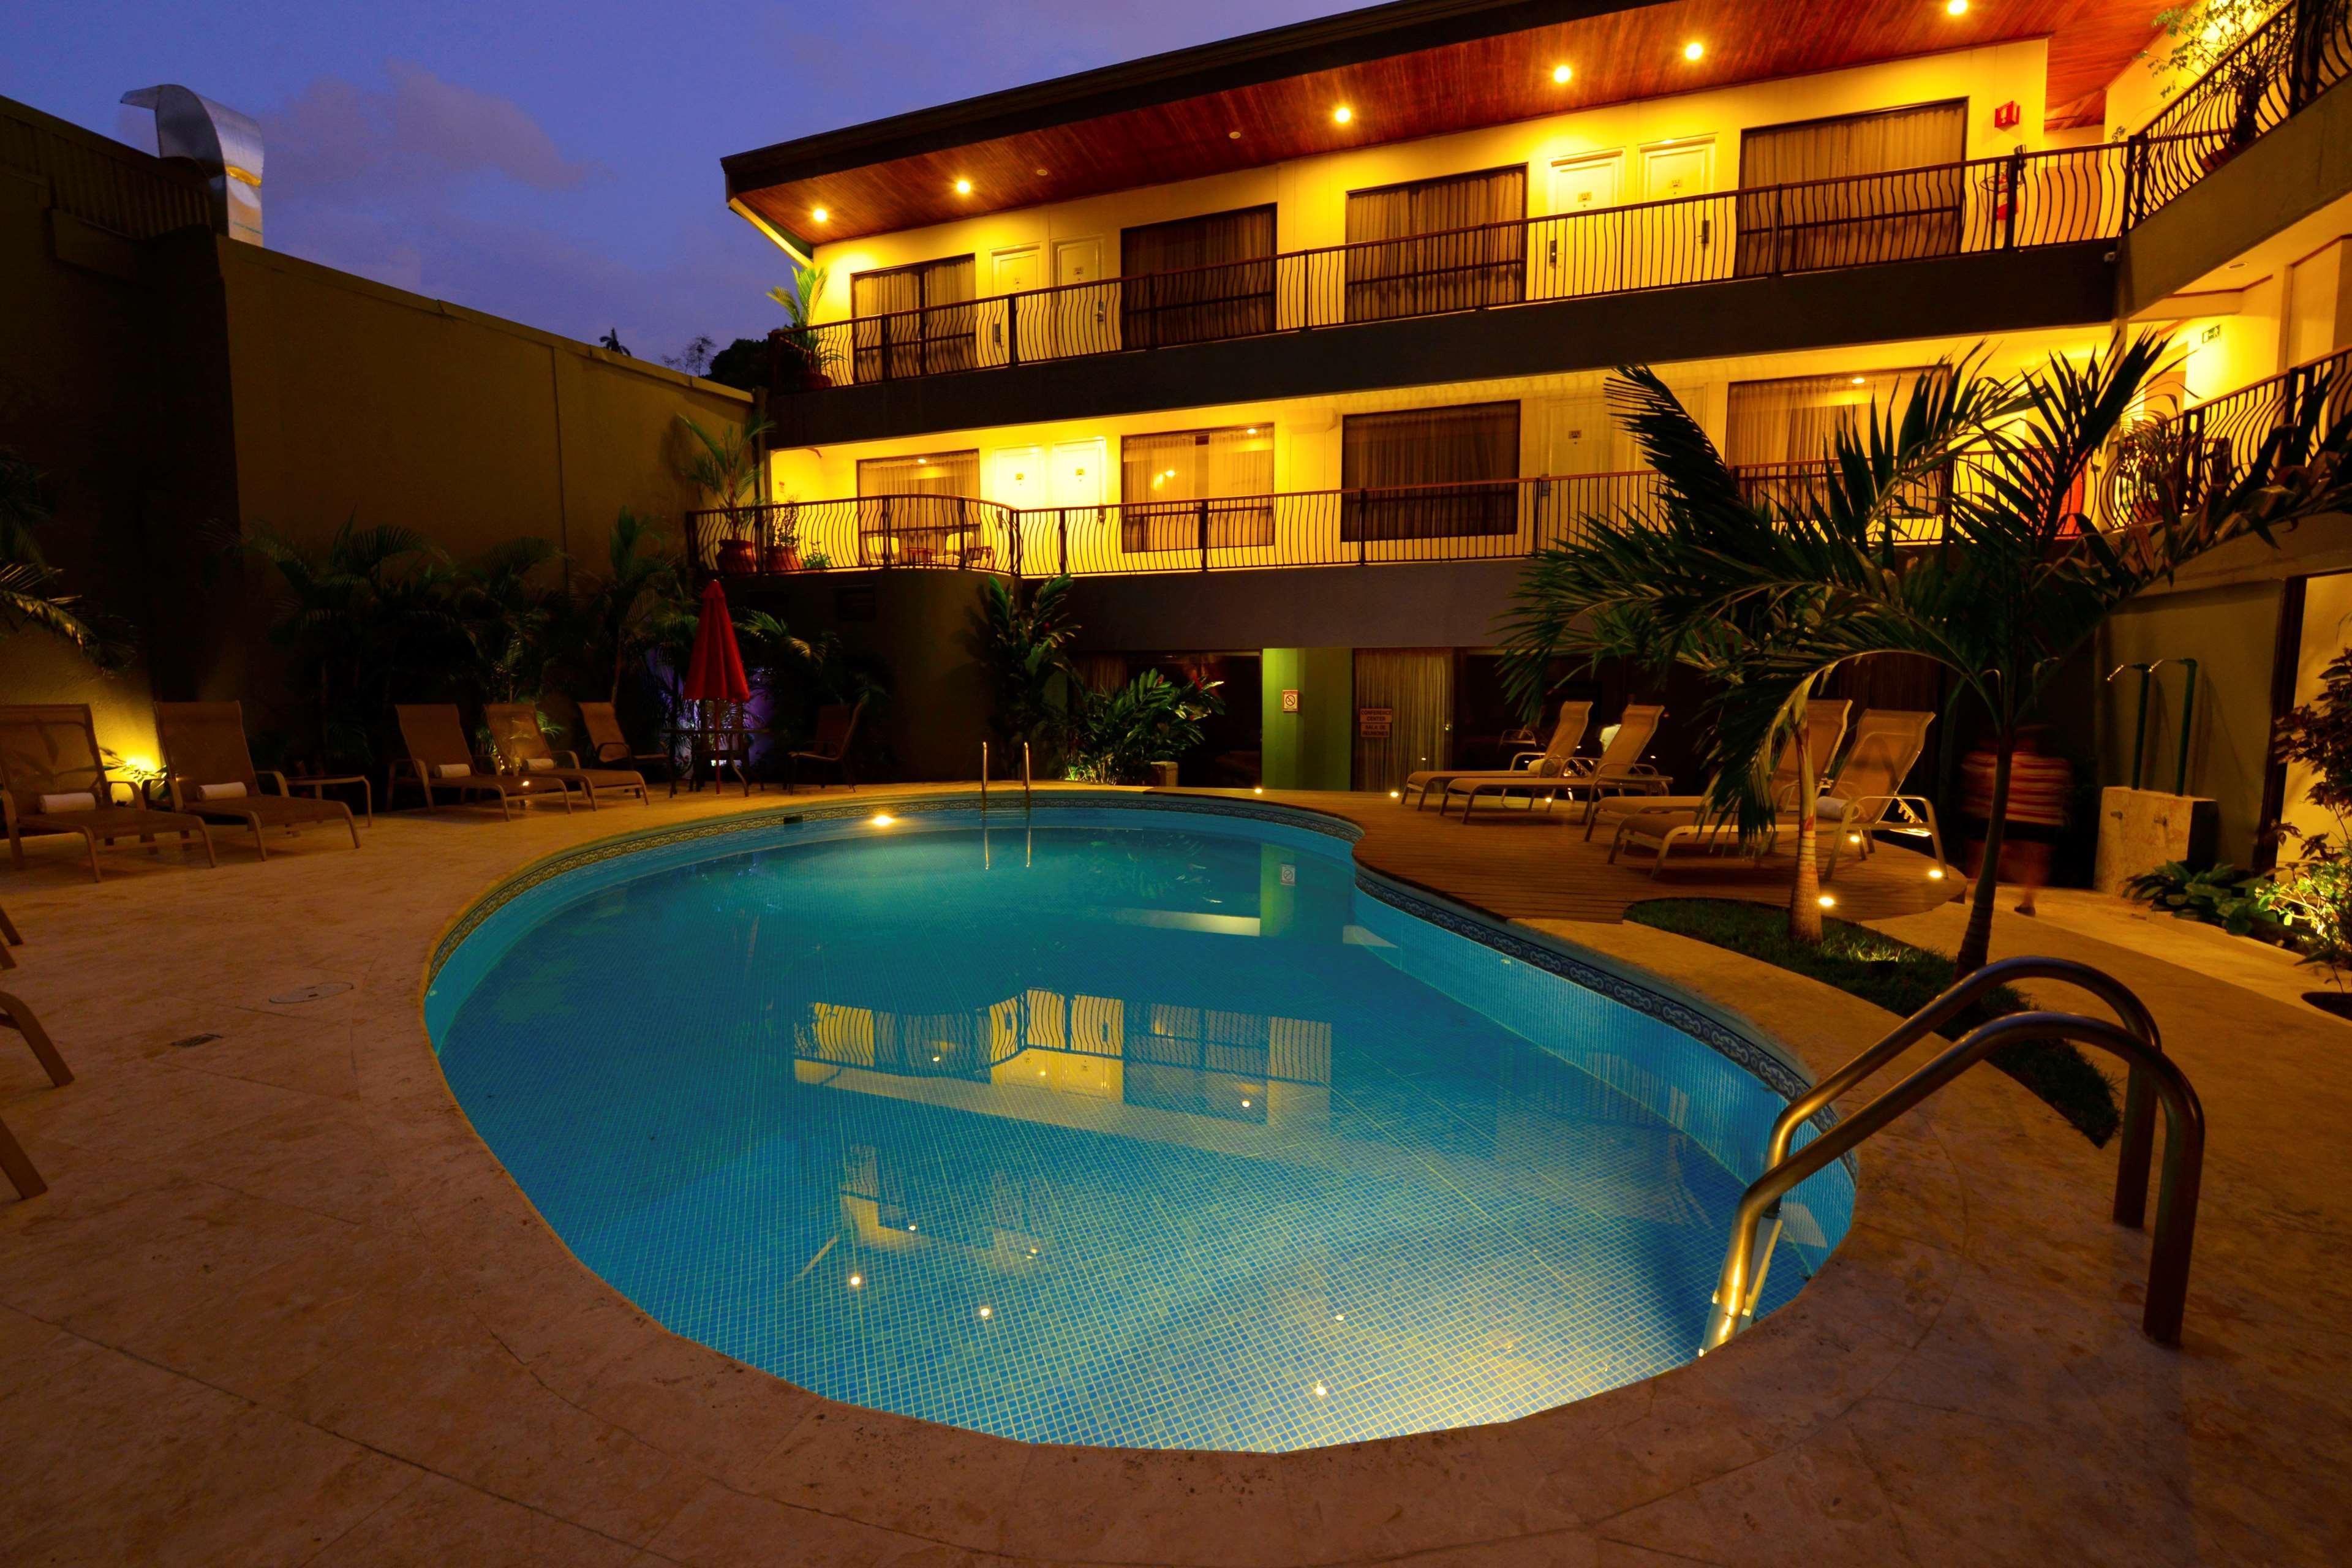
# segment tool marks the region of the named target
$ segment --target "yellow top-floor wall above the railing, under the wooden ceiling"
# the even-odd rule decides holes
[[[962,223],[938,223],[866,240],[826,244],[818,235],[816,261],[828,270],[818,320],[849,315],[849,277],[873,268],[938,256],[976,256],[976,289],[997,294],[993,256],[997,252],[1037,247],[1042,275],[1054,275],[1051,249],[1065,240],[1101,240],[1103,275],[1117,273],[1120,230],[1136,223],[1181,219],[1202,212],[1256,207],[1272,202],[1275,244],[1284,252],[1338,244],[1345,237],[1348,190],[1388,186],[1406,179],[1529,165],[1529,214],[1550,207],[1550,165],[1562,158],[1623,150],[1621,200],[1644,200],[1642,153],[1661,143],[1689,146],[1712,141],[1715,190],[1738,183],[1740,132],[1759,125],[1816,120],[1823,115],[1896,108],[1969,99],[1969,155],[1990,158],[2018,143],[2042,146],[2044,118],[2042,40],[1952,49],[1915,59],[1856,66],[1771,82],[1745,82],[1715,92],[1691,92],[1637,103],[1616,103],[1541,120],[1423,136],[1322,158],[1221,174],[1169,186],[1145,186],[1077,202],[1054,202],[1018,212],[990,212]],[[1997,132],[1992,110],[2016,101],[2020,122]],[[1352,103],[1359,125],[1378,125],[1378,103]],[[985,200],[985,193],[974,193]]]

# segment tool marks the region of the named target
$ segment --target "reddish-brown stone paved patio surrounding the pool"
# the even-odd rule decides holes
[[[1275,1458],[1021,1446],[677,1340],[581,1269],[473,1135],[419,978],[445,922],[541,853],[776,804],[395,816],[360,853],[308,835],[205,872],[167,851],[115,858],[103,886],[42,853],[0,879],[31,938],[0,987],[80,1074],[49,1088],[0,1037],[0,1117],[52,1182],[0,1204],[0,1561],[2352,1556],[2352,1335],[2326,1307],[2352,1244],[2352,1025],[2296,1001],[2281,954],[2089,898],[2004,917],[1997,945],[2112,969],[2204,1093],[2178,1352],[2138,1333],[2147,1239],[2105,1220],[2112,1159],[1994,1072],[1867,1147],[1856,1227],[1792,1307],[1703,1363],[1501,1427]],[[1505,830],[1529,846],[1510,853],[1446,832],[1465,886],[1418,827],[1359,856],[1717,999],[1816,1067],[1886,1025],[1606,907],[1512,907],[1498,867],[1573,865],[1543,827]],[[1957,907],[1915,891],[1886,929],[1957,938]],[[273,1001],[315,983],[350,990]],[[219,1039],[174,1044],[198,1034]]]

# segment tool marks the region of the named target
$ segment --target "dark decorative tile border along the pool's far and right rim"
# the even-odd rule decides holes
[[[1000,792],[995,792],[995,795],[988,797],[990,811],[1000,811],[1000,809],[1004,809],[1004,811],[1009,811],[1009,809],[1025,809],[1025,811],[1152,811],[1152,813],[1192,811],[1192,813],[1200,813],[1200,816],[1232,816],[1232,818],[1247,818],[1247,820],[1256,820],[1256,823],[1277,823],[1282,827],[1298,827],[1298,830],[1305,830],[1305,832],[1319,832],[1324,837],[1341,839],[1343,844],[1355,844],[1357,839],[1364,837],[1364,830],[1357,827],[1355,823],[1336,818],[1336,816],[1324,816],[1319,811],[1301,811],[1298,806],[1277,806],[1277,804],[1254,802],[1254,799],[1223,799],[1223,797],[1214,797],[1214,795],[1134,795],[1134,792],[1124,792],[1124,790],[1122,792],[1096,795],[1096,792],[1084,792],[1084,790],[1049,790],[1044,795],[1030,797],[1030,802],[1025,806],[1018,806],[1018,804],[1014,804],[1014,806],[997,806],[997,799],[1002,795],[1004,792],[1000,790]],[[426,983],[428,985],[433,983],[433,978],[440,973],[442,964],[449,961],[449,954],[454,954],[459,950],[459,945],[463,945],[463,940],[468,936],[473,936],[482,926],[485,919],[489,919],[492,914],[496,914],[501,907],[506,907],[510,900],[520,898],[522,893],[529,893],[532,889],[543,886],[543,884],[548,884],[555,877],[562,877],[567,872],[576,872],[583,865],[600,865],[600,863],[614,860],[619,856],[633,856],[633,853],[642,853],[642,851],[649,851],[649,849],[668,849],[673,844],[694,844],[694,842],[701,842],[701,839],[727,839],[727,837],[743,835],[743,832],[767,832],[769,827],[781,827],[781,825],[788,825],[788,823],[830,823],[830,820],[840,820],[840,818],[847,818],[847,816],[873,816],[873,811],[877,811],[884,804],[891,811],[891,816],[929,816],[929,813],[938,813],[938,811],[969,811],[971,806],[981,804],[981,792],[978,790],[962,790],[962,792],[955,792],[955,795],[917,795],[917,797],[908,797],[908,799],[887,799],[887,802],[856,799],[856,797],[847,797],[847,799],[844,797],[835,797],[830,802],[828,799],[811,799],[807,806],[776,806],[774,811],[746,811],[746,813],[739,813],[739,816],[706,818],[706,820],[699,820],[699,823],[677,823],[677,825],[670,825],[670,827],[644,827],[644,830],[626,832],[626,835],[619,835],[619,837],[612,837],[612,839],[597,839],[593,844],[581,844],[579,849],[564,849],[560,853],[548,856],[546,860],[536,860],[536,863],[522,867],[520,872],[515,872],[506,882],[501,882],[494,889],[489,889],[487,893],[482,893],[466,910],[466,914],[461,914],[442,933],[442,940],[433,947],[433,961],[426,966]],[[1406,886],[1402,886],[1399,882],[1395,882],[1390,877],[1381,877],[1378,872],[1371,872],[1371,870],[1367,870],[1362,865],[1355,872],[1355,884],[1364,893],[1371,893],[1381,903],[1385,903],[1385,905],[1390,905],[1395,910],[1402,910],[1402,912],[1411,914],[1414,919],[1425,919],[1432,926],[1439,926],[1442,931],[1451,931],[1456,936],[1465,936],[1472,943],[1491,947],[1494,952],[1498,952],[1503,957],[1519,959],[1522,964],[1529,964],[1529,966],[1541,969],[1545,973],[1555,973],[1562,980],[1569,980],[1571,985],[1581,985],[1585,990],[1599,992],[1602,997],[1609,997],[1611,1001],[1618,1001],[1621,1006],[1630,1006],[1632,1011],[1646,1013],[1646,1016],[1656,1018],[1658,1023],[1663,1023],[1663,1025],[1668,1025],[1672,1030],[1682,1030],[1684,1034],[1689,1034],[1691,1039],[1700,1041],[1703,1046],[1708,1046],[1717,1056],[1726,1058],[1731,1065],[1736,1065],[1743,1072],[1748,1072],[1750,1077],[1759,1079],[1764,1086],[1769,1086],[1783,1100],[1792,1100],[1799,1093],[1804,1093],[1806,1088],[1811,1088],[1811,1084],[1804,1079],[1804,1074],[1797,1072],[1797,1067],[1792,1067],[1788,1063],[1788,1058],[1778,1056],[1776,1051],[1764,1048],[1759,1041],[1750,1039],[1745,1032],[1731,1027],[1724,1018],[1719,1018],[1719,1016],[1715,1016],[1715,1013],[1710,1013],[1710,1011],[1705,1011],[1700,1006],[1693,1006],[1693,1004],[1684,1001],[1682,997],[1670,997],[1665,992],[1651,990],[1649,985],[1642,985],[1639,980],[1632,980],[1630,976],[1623,976],[1623,973],[1618,973],[1613,969],[1602,969],[1597,964],[1585,964],[1583,959],[1573,959],[1566,952],[1562,952],[1559,947],[1552,947],[1548,943],[1536,943],[1536,940],[1529,940],[1529,938],[1515,933],[1512,929],[1498,924],[1494,917],[1472,914],[1470,910],[1463,910],[1458,905],[1437,903],[1435,898],[1425,898],[1421,893],[1414,893]],[[1837,1114],[1825,1110],[1818,1117],[1813,1117],[1813,1126],[1816,1128],[1825,1128],[1835,1119],[1837,1119]],[[1849,1157],[1849,1166],[1851,1166],[1851,1157]]]

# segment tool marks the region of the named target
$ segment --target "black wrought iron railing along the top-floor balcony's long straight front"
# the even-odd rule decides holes
[[[873,383],[2103,240],[2124,228],[2129,160],[2124,143],[2018,150],[1025,289],[823,322],[807,357],[830,383]]]

